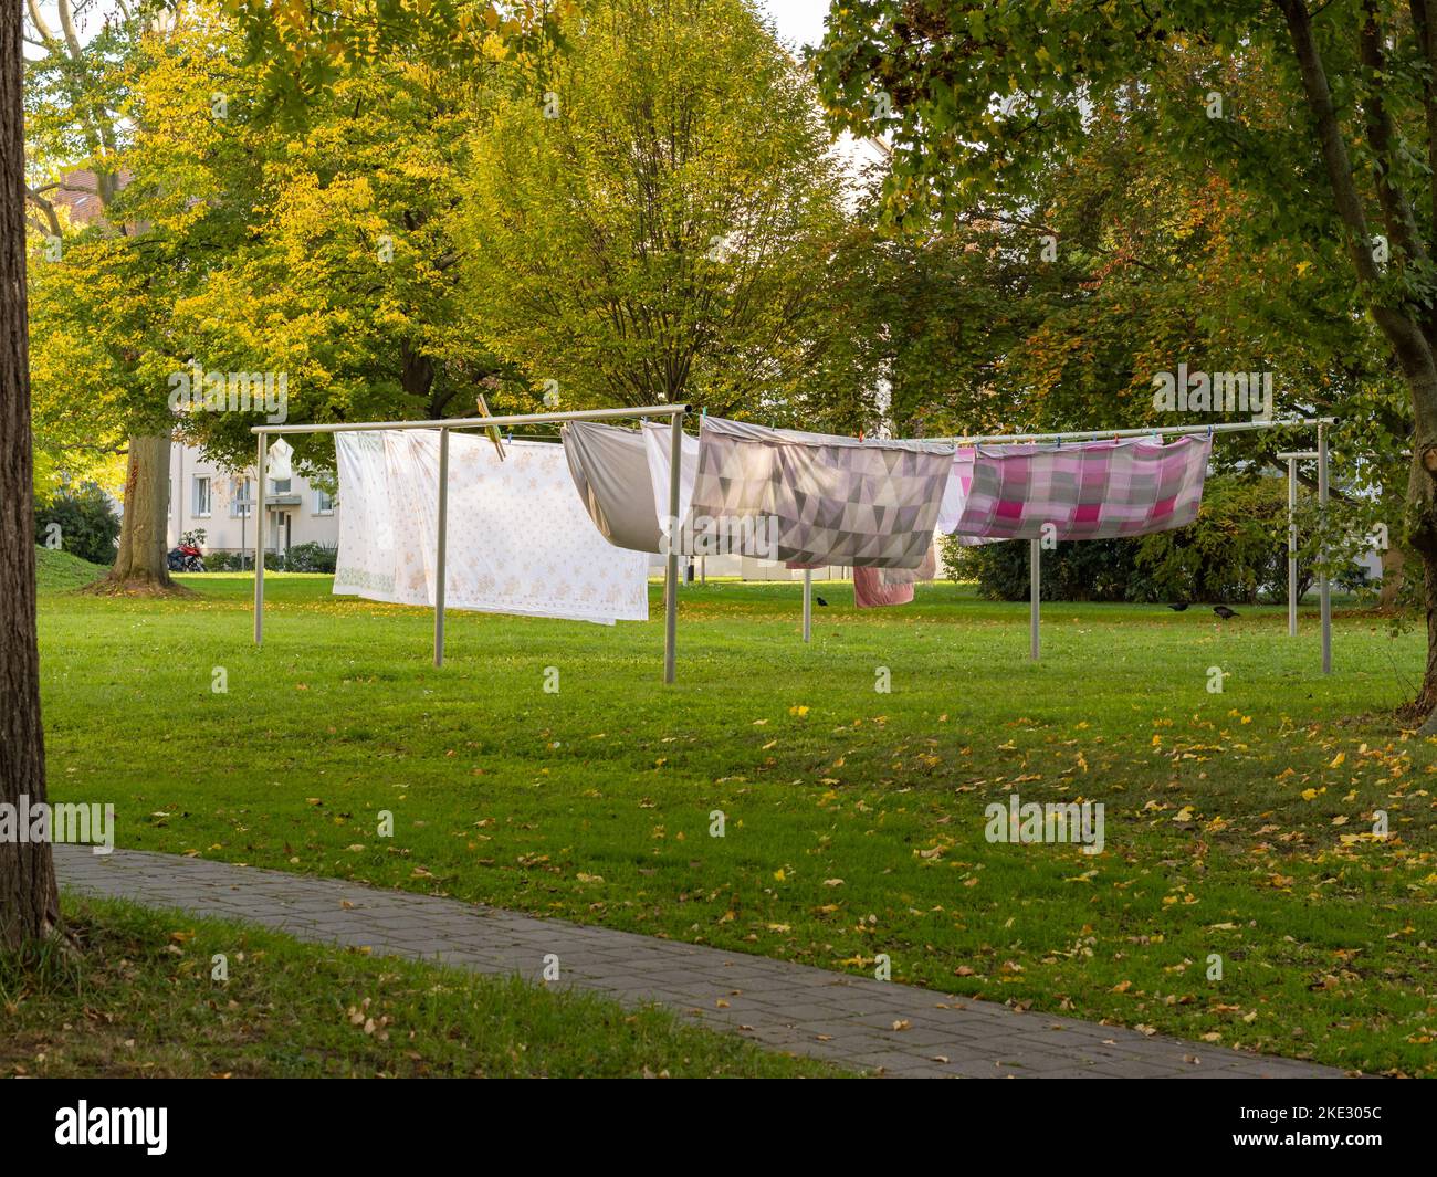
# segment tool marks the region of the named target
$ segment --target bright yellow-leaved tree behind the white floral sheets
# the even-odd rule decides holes
[[[502,365],[479,342],[453,220],[490,73],[395,57],[277,125],[230,27],[170,40],[137,88],[151,129],[132,158],[152,181],[137,214],[155,247],[201,259],[175,290],[168,335],[197,401],[201,372],[257,372],[283,388],[289,421],[473,414]],[[241,466],[250,428],[273,415],[210,405],[181,431]],[[295,448],[303,466],[332,461],[328,437]]]

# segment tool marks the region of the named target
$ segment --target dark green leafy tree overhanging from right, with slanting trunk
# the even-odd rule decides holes
[[[892,138],[898,217],[1030,198],[1085,141],[1091,112],[1112,108],[1132,135],[1210,161],[1249,197],[1249,241],[1308,246],[1309,266],[1341,259],[1329,277],[1377,325],[1407,391],[1403,523],[1423,562],[1428,642],[1403,716],[1426,731],[1437,731],[1434,20],[1428,0],[854,0],[835,6],[816,57],[835,119]]]

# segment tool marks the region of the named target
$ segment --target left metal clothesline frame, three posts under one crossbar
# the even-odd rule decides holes
[[[254,644],[264,637],[264,456],[269,437],[283,434],[319,433],[374,433],[379,430],[438,430],[440,433],[440,486],[438,486],[438,535],[435,536],[434,586],[434,665],[444,664],[444,591],[447,588],[447,539],[448,539],[448,435],[451,430],[504,428],[512,425],[562,424],[565,421],[624,421],[647,417],[673,418],[674,448],[668,479],[668,513],[678,514],[678,487],[683,467],[684,415],[687,404],[639,405],[635,408],[589,408],[573,412],[519,412],[506,417],[453,417],[438,421],[343,421],[326,425],[254,425],[250,433],[257,444],[259,494],[254,522]],[[677,532],[677,520],[674,525]],[[674,681],[678,637],[678,552],[668,553],[664,576],[664,681]]]

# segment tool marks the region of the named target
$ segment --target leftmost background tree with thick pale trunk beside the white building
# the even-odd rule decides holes
[[[37,424],[46,437],[46,420],[85,420],[80,441],[73,430],[57,431],[59,444],[69,443],[62,460],[75,473],[83,473],[85,458],[96,450],[128,453],[119,548],[96,589],[171,592],[165,563],[171,420],[164,401],[145,388],[165,300],[142,253],[145,226],[124,214],[122,161],[134,134],[125,106],[135,65],[145,39],[162,36],[172,20],[162,10],[131,11],[121,4],[119,14],[85,40],[78,17],[86,7],[56,0],[52,26],[37,0],[27,3],[27,40],[39,50],[26,78],[29,132],[45,172],[26,188],[30,227],[42,237],[36,247],[37,359],[42,378],[56,377],[56,385],[37,385]],[[55,197],[65,191],[88,193],[91,216],[80,221],[62,216]],[[99,267],[108,280],[96,283]],[[85,328],[66,333],[56,318],[85,322]],[[65,348],[83,351],[83,362],[76,364],[73,355],[56,362],[53,352]],[[89,395],[76,395],[76,375],[91,382]]]

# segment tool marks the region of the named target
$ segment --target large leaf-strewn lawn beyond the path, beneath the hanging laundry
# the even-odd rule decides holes
[[[272,575],[256,650],[249,576],[182,579],[42,599],[52,789],[121,846],[1437,1071],[1437,742],[1390,719],[1421,651],[1381,621],[1339,615],[1323,678],[1313,614],[1050,604],[1035,665],[1026,605],[953,585],[823,585],[805,647],[798,585],[721,583],[664,687],[657,588],[644,625],[451,614],[435,670],[425,611]],[[1015,792],[1102,802],[1104,854],[990,844]]]

